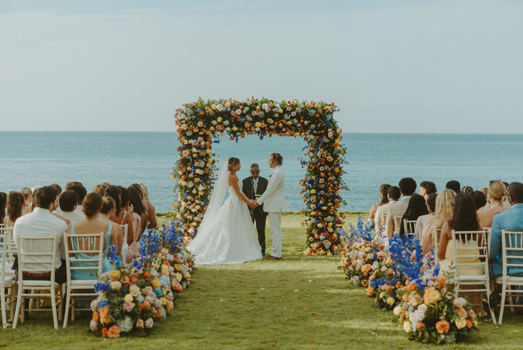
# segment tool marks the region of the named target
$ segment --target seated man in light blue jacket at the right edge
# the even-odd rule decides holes
[[[520,182],[513,182],[509,184],[507,197],[510,205],[512,206],[511,209],[497,214],[492,220],[489,261],[491,262],[495,277],[500,277],[503,275],[501,231],[523,231],[523,184]],[[514,244],[514,242],[512,242],[512,244]],[[520,252],[520,254],[523,254],[523,252]],[[516,263],[516,261],[512,260],[509,263]],[[517,263],[523,263],[523,259]],[[521,269],[521,267],[507,266],[507,274],[511,276],[523,276],[523,269]]]

